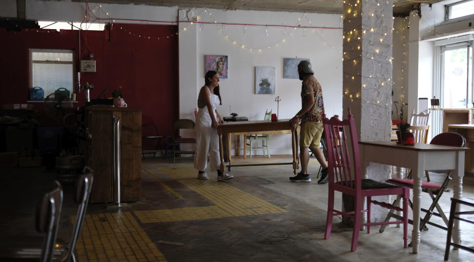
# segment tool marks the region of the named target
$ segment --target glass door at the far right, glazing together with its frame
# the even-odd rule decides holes
[[[467,108],[473,102],[473,56],[471,42],[442,47],[443,108]]]

